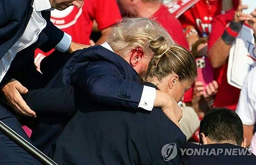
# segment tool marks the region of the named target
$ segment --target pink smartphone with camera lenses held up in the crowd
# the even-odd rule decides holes
[[[196,58],[197,81],[203,82],[204,87],[207,87],[213,79],[212,65],[207,57]]]

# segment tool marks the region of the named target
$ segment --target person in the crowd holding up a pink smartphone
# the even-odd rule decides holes
[[[201,64],[203,66],[200,66],[200,63],[196,63],[197,68],[205,69],[207,67],[207,70],[202,71],[201,73],[210,73],[212,70],[210,66],[206,66],[209,63],[206,63],[205,60],[207,60],[207,38],[200,38],[192,47],[192,55],[196,59],[203,59],[203,63]],[[203,58],[202,58],[203,57]],[[199,71],[199,69],[198,69]],[[209,76],[203,74],[203,76]],[[200,77],[204,78],[204,77]],[[183,116],[180,121],[181,124],[181,130],[186,134],[187,139],[190,139],[191,141],[199,142],[199,123],[200,120],[203,118],[205,113],[209,111],[210,107],[212,106],[212,102],[214,99],[214,95],[216,94],[218,90],[218,84],[216,81],[211,80],[212,82],[205,83],[205,80],[199,80],[196,78],[195,82],[193,83],[191,89],[189,89],[185,95],[184,95],[184,104],[182,104],[182,110],[183,110]],[[196,114],[196,115],[194,115]],[[186,122],[184,121],[186,119]]]

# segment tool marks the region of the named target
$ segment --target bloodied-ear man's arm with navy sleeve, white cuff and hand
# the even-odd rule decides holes
[[[79,68],[71,76],[71,85],[87,95],[89,101],[137,111],[163,109],[167,117],[179,125],[182,111],[168,94],[138,82],[125,80],[114,64],[94,62]]]

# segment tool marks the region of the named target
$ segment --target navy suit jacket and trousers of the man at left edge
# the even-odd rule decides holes
[[[0,59],[23,35],[32,15],[32,2],[33,0],[1,0]],[[15,78],[28,89],[42,88],[47,83],[44,81],[44,76],[35,67],[34,50],[36,48],[44,51],[53,49],[61,41],[64,33],[50,22],[49,11],[43,11],[41,14],[47,21],[46,28],[40,33],[37,42],[18,52],[0,82],[0,87],[11,78]],[[8,107],[4,107],[3,104],[2,102],[0,103],[0,120],[30,142],[18,120],[10,111],[7,111]],[[2,133],[0,133],[0,148],[4,151],[4,153],[0,154],[1,164],[40,164]]]

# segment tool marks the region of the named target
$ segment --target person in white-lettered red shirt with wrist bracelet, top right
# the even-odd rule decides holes
[[[238,0],[232,2],[233,8],[236,9]],[[179,17],[190,49],[199,37],[209,36],[212,31],[212,20],[220,15],[224,8],[230,6],[223,6],[223,0],[200,0]]]

